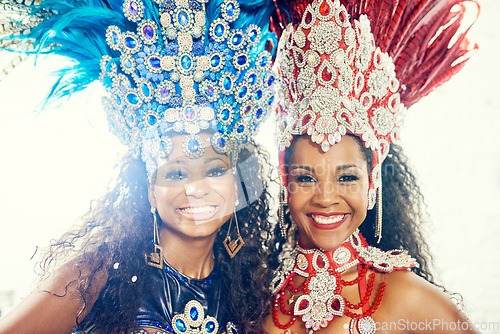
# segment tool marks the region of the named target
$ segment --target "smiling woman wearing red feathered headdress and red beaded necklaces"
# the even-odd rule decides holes
[[[475,332],[429,272],[422,194],[395,144],[407,108],[475,48],[466,2],[278,1],[282,263],[267,332]]]

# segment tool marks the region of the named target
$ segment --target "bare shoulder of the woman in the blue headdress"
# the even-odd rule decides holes
[[[82,320],[90,312],[106,283],[106,271],[95,269],[79,258],[63,264],[0,319],[0,333],[71,333],[77,317]],[[86,277],[92,279],[84,302],[78,287]]]

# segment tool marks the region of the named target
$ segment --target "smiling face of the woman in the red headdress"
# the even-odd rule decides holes
[[[288,205],[300,244],[332,250],[366,217],[368,165],[351,136],[323,152],[309,136],[296,139],[288,165]]]

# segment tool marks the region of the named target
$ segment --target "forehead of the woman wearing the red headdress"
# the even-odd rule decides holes
[[[351,136],[343,136],[342,140],[332,145],[327,152],[313,143],[309,136],[297,139],[290,157],[292,165],[339,166],[356,164],[366,168],[366,159],[358,141]],[[313,166],[314,167],[314,166]]]

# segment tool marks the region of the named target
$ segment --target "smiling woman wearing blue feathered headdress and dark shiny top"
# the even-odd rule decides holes
[[[100,79],[128,145],[116,185],[41,262],[1,333],[258,332],[271,238],[265,153],[273,4],[4,1],[2,47],[75,60],[50,100]],[[268,172],[268,170],[267,170]],[[57,269],[55,264],[64,262]]]

